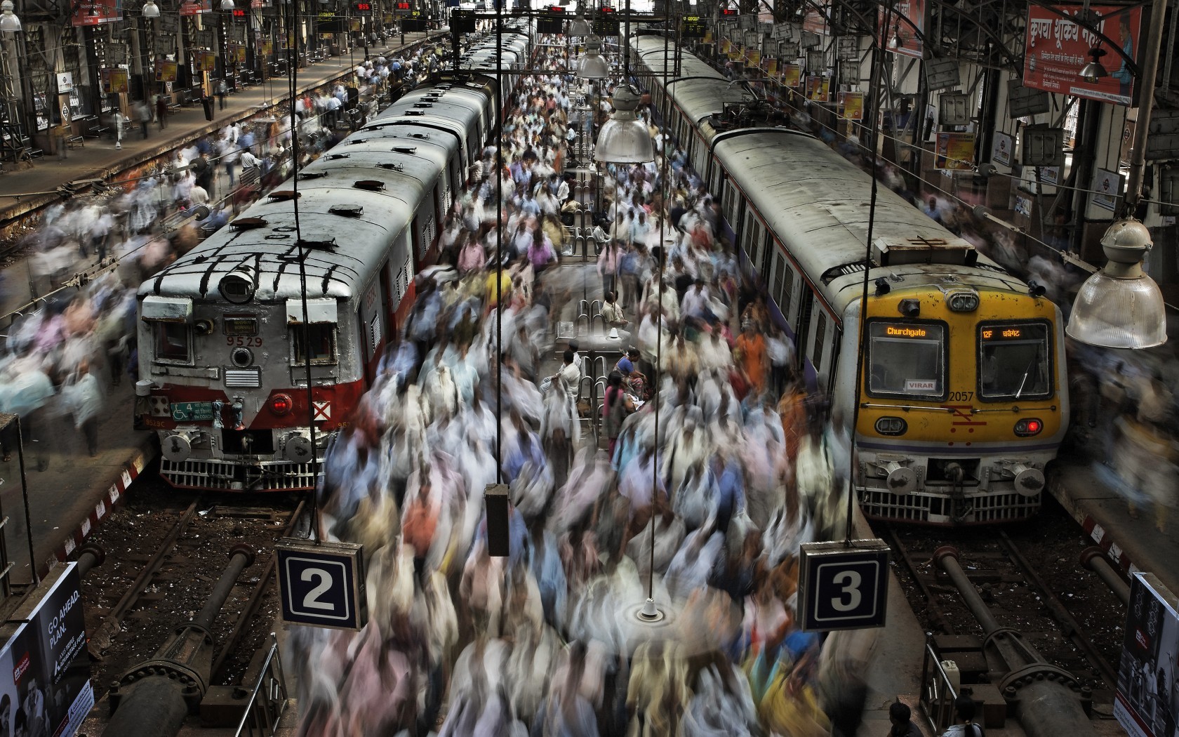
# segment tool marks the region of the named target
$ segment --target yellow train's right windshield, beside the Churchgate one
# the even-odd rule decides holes
[[[979,325],[979,399],[1043,399],[1052,394],[1048,325]]]

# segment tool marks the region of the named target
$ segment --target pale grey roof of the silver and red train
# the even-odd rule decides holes
[[[298,232],[312,244],[305,258],[309,296],[349,298],[368,283],[457,145],[422,123],[461,127],[462,120],[436,116],[479,114],[466,104],[473,96],[462,92],[422,121],[394,116],[370,124],[299,172]],[[302,294],[298,266],[292,202],[268,197],[146,279],[139,295],[220,300],[220,279],[239,271],[252,277],[255,300],[286,300]]]

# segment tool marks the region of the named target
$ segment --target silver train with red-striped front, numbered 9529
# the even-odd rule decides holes
[[[457,72],[299,171],[297,224],[288,182],[140,285],[134,420],[158,433],[169,483],[315,486],[310,422],[318,459],[436,259],[440,223],[527,66],[526,31],[476,41]]]

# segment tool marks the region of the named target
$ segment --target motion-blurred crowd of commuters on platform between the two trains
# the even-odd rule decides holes
[[[565,68],[559,52],[538,62]],[[870,636],[822,647],[793,624],[798,546],[843,534],[848,439],[789,371],[793,347],[681,152],[667,183],[661,157],[611,166],[624,225],[597,266],[559,268],[572,84],[522,79],[329,447],[322,527],[365,545],[370,619],[291,638],[301,733],[852,735]],[[577,341],[549,357],[594,269],[591,296],[634,342],[600,409]],[[506,558],[482,499],[500,479]],[[626,612],[652,558],[672,621],[647,639]]]

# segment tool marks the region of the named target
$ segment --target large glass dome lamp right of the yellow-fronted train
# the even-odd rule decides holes
[[[1089,346],[1152,348],[1167,340],[1162,292],[1142,272],[1154,246],[1151,231],[1133,218],[1118,221],[1101,237],[1106,265],[1085,279],[1065,333]]]

